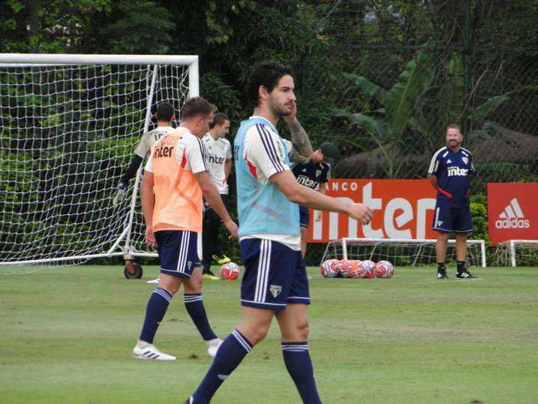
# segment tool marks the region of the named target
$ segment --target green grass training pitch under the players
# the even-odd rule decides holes
[[[0,403],[182,403],[210,365],[181,293],[156,346],[174,362],[133,359],[156,275],[119,266],[0,275]],[[537,403],[538,268],[396,268],[391,280],[325,280],[310,268],[311,357],[324,403]],[[239,281],[206,281],[224,338],[240,312]],[[300,403],[277,323],[213,403]]]

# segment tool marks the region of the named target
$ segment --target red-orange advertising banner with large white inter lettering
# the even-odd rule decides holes
[[[435,239],[432,230],[436,191],[424,179],[331,179],[327,195],[363,202],[374,209],[369,225],[340,213],[310,211],[309,243],[342,237]]]

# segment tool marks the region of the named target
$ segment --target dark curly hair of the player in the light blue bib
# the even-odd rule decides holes
[[[247,103],[250,107],[258,106],[258,91],[260,86],[267,88],[269,92],[277,86],[282,76],[292,76],[293,69],[284,66],[275,60],[258,62],[252,67],[250,76],[247,79]]]

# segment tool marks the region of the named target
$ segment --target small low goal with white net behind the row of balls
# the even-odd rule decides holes
[[[437,262],[436,240],[354,239],[329,241],[321,262],[327,259],[390,261],[394,266],[427,266]],[[448,240],[446,262],[456,261],[455,240]],[[469,266],[486,266],[484,240],[467,240]]]

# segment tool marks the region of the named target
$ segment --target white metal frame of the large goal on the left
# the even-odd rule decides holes
[[[184,65],[188,68],[188,95],[187,99],[199,96],[199,56],[197,55],[106,55],[106,54],[0,54],[0,67],[40,67],[65,65],[148,65],[153,66],[152,84],[149,88],[145,111],[144,132],[149,129],[152,119],[151,106],[156,82],[158,65]],[[19,261],[0,261],[0,266],[45,264],[61,261],[83,261],[94,258],[122,256],[128,261],[134,257],[158,257],[156,252],[136,251],[131,243],[133,220],[136,209],[136,200],[142,165],[136,173],[133,191],[130,195],[129,214],[125,218],[123,232],[113,242],[107,252],[95,254],[69,255],[46,259],[26,259]],[[123,242],[123,245],[121,245]],[[120,251],[116,251],[120,249]]]

